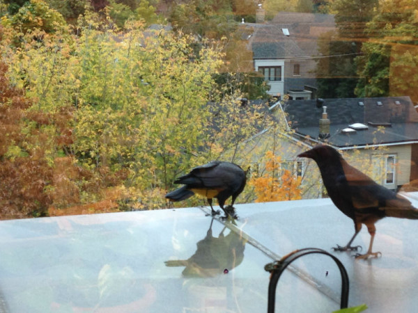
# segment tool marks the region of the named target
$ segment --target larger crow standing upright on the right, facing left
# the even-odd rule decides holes
[[[369,176],[350,166],[341,154],[327,145],[318,145],[303,152],[298,157],[313,159],[318,164],[323,177],[325,188],[335,206],[354,221],[355,233],[353,238],[344,247],[337,246],[334,250],[357,250],[351,243],[355,236],[366,225],[371,236],[369,250],[357,258],[367,259],[370,256],[378,257],[380,252],[372,252],[373,239],[376,234],[375,223],[391,216],[396,218],[418,219],[418,209],[411,203],[376,182]]]

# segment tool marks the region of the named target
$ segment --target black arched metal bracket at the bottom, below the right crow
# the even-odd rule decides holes
[[[264,266],[265,271],[271,273],[270,275],[270,284],[268,286],[268,313],[274,313],[274,305],[276,302],[276,287],[277,282],[279,282],[279,278],[281,273],[289,266],[295,259],[303,257],[304,255],[311,255],[313,253],[319,253],[321,255],[328,255],[331,257],[336,265],[339,268],[341,273],[341,309],[344,309],[348,306],[348,289],[350,287],[350,283],[348,281],[348,275],[346,268],[343,266],[341,261],[334,257],[334,255],[330,254],[329,252],[318,249],[318,248],[304,248],[300,250],[295,250],[288,255],[282,257],[279,261],[275,261]]]

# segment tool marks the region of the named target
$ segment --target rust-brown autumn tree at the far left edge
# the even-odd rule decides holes
[[[54,170],[65,159],[63,147],[72,143],[71,111],[39,111],[22,89],[12,87],[4,63],[0,82],[0,217],[43,216],[54,203],[77,202],[77,186],[68,177],[77,175],[71,160]]]

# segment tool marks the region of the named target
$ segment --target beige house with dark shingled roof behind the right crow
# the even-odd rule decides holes
[[[387,188],[418,178],[418,113],[410,97],[290,100],[281,110],[295,141],[332,145]]]

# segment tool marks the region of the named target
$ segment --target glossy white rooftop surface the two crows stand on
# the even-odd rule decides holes
[[[300,248],[341,260],[349,306],[417,312],[418,220],[380,220],[382,257],[362,260],[332,251],[354,226],[329,199],[235,207],[236,225],[215,219],[212,234],[208,207],[1,221],[0,312],[267,312],[265,264]],[[354,244],[365,252],[369,238],[363,227]],[[276,294],[276,312],[332,312],[341,275],[330,257],[307,255]]]

